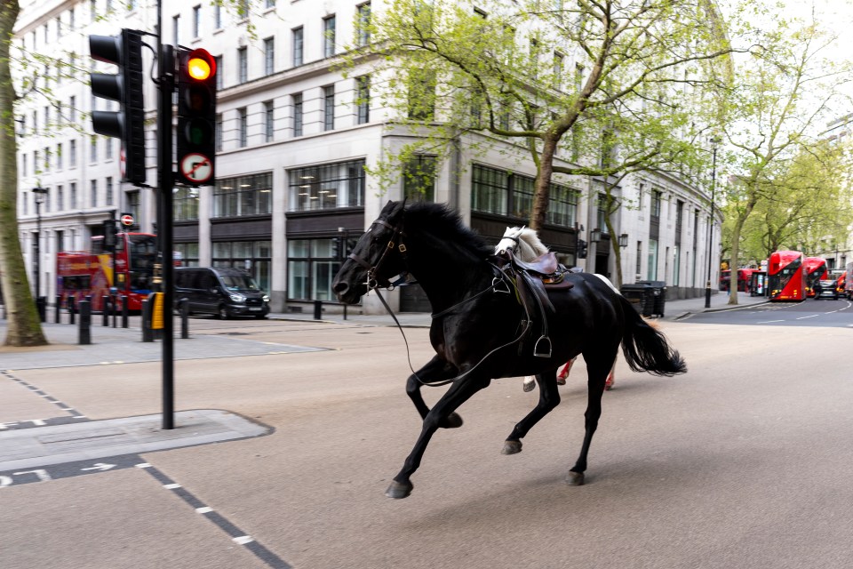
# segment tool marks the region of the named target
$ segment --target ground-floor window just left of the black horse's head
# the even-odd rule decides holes
[[[337,237],[287,240],[287,296],[292,301],[334,301],[331,281],[340,268]],[[344,250],[352,251],[348,238]]]

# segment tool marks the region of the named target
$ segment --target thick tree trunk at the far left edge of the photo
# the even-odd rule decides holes
[[[18,236],[18,141],[15,136],[15,90],[9,68],[12,29],[18,19],[17,0],[0,3],[0,282],[6,310],[6,346],[47,343],[36,303],[29,290],[27,268]]]

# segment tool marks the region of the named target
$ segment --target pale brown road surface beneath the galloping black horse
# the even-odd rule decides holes
[[[728,323],[751,310],[662,323],[688,362],[680,377],[619,360],[586,485],[562,481],[583,437],[578,360],[522,453],[499,451],[537,392],[493,381],[461,429],[434,437],[402,501],[383,493],[419,417],[398,330],[194,320],[190,342],[315,349],[176,363],[180,410],[238,413],[271,434],[46,481],[2,473],[0,567],[847,567],[853,331]],[[426,330],[405,333],[417,367]],[[159,377],[156,362],[11,370],[0,421],[60,414],[34,389],[91,420],[159,413]]]

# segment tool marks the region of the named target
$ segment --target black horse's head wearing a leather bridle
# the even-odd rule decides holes
[[[388,202],[341,265],[331,283],[338,300],[354,304],[371,289],[391,285],[405,271],[404,202]]]

